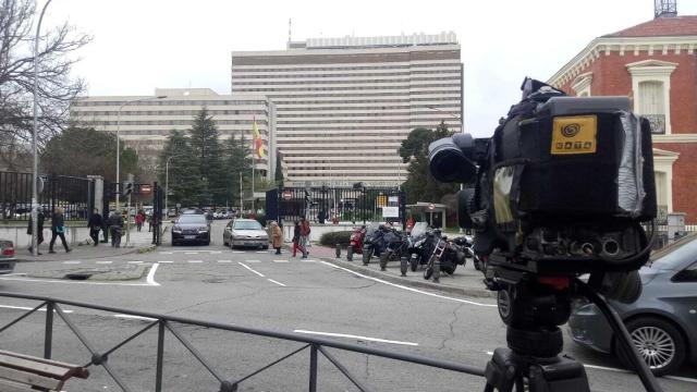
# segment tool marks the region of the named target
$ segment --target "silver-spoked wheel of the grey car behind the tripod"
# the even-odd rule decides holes
[[[685,340],[673,323],[656,317],[639,317],[626,323],[632,343],[655,376],[664,376],[677,370],[685,360]],[[614,342],[622,364],[633,369],[627,353]]]

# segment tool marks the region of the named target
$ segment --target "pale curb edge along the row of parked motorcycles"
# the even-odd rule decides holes
[[[350,269],[354,272],[359,272],[363,274],[366,274],[368,277],[371,278],[378,278],[378,279],[382,279],[384,281],[388,281],[390,283],[396,283],[396,284],[402,284],[402,285],[406,285],[406,286],[412,286],[412,287],[418,287],[418,289],[429,289],[429,290],[436,290],[436,291],[440,291],[440,292],[445,292],[445,293],[452,293],[452,294],[458,294],[458,295],[465,295],[465,296],[470,296],[470,297],[479,297],[479,298],[496,298],[497,293],[489,291],[487,289],[484,287],[484,283],[481,289],[479,287],[460,287],[460,286],[453,286],[453,285],[449,285],[449,284],[442,284],[442,283],[433,283],[432,281],[414,281],[414,280],[409,280],[409,279],[404,279],[401,277],[394,277],[388,273],[383,273],[380,271],[376,271],[372,270],[370,268],[366,268],[363,267],[363,264],[355,264],[352,261],[346,261],[343,259],[337,259],[337,258],[331,258],[331,257],[326,257],[326,256],[311,256],[314,258],[317,259],[321,259],[322,261],[327,261],[327,262],[331,262],[334,266],[339,266],[339,267],[343,267],[346,269]]]

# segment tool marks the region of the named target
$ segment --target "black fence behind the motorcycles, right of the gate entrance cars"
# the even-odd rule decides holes
[[[286,187],[266,193],[268,219],[313,222],[332,219],[351,222],[389,221],[404,223],[406,195],[396,188]]]

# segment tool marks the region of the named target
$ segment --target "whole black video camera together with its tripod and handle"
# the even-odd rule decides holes
[[[627,97],[567,97],[531,78],[521,89],[492,137],[431,143],[430,172],[473,185],[457,195],[458,223],[475,232],[508,326],[509,348],[487,365],[486,390],[523,390],[525,380],[530,391],[587,391],[583,366],[559,357],[558,326],[573,297],[609,309],[597,293],[640,293],[636,270],[650,256],[657,215],[650,124]],[[633,350],[617,320],[619,341]],[[636,355],[633,363],[648,387],[646,364]],[[649,389],[660,390],[655,380]]]

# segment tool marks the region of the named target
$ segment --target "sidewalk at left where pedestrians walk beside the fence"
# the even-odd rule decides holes
[[[53,244],[53,250],[56,254],[48,253],[48,243],[51,241],[51,236],[48,235],[44,238],[44,243],[39,246],[40,256],[33,256],[26,247],[16,247],[15,254],[17,261],[64,261],[76,259],[95,259],[95,258],[108,258],[121,255],[127,255],[132,253],[144,253],[155,248],[152,243],[152,233],[148,233],[147,226],[143,228],[139,233],[135,228],[131,229],[131,242],[126,245],[125,235],[121,237],[121,247],[111,247],[111,236],[109,236],[109,243],[99,243],[98,246],[94,246],[91,238],[78,238],[78,242],[71,246],[71,253],[65,253],[60,238]],[[87,242],[89,240],[89,242]],[[103,235],[99,232],[99,240],[103,240]]]

